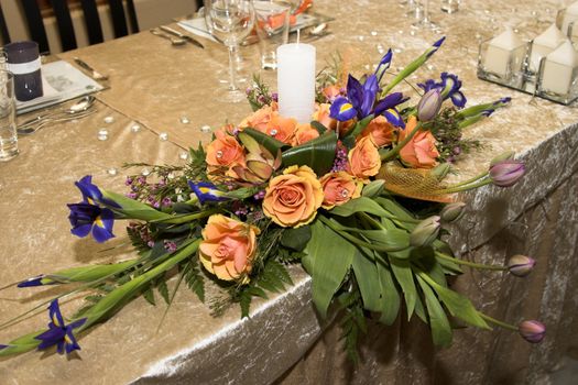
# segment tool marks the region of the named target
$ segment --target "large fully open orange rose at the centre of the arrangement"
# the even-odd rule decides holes
[[[298,228],[315,219],[324,194],[317,176],[307,166],[290,166],[269,182],[263,212],[284,228]]]

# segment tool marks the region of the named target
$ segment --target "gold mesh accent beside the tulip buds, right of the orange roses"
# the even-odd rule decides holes
[[[385,180],[385,188],[397,195],[421,200],[449,204],[455,194],[440,193],[445,186],[427,169],[404,168],[392,163],[381,167],[378,178]]]

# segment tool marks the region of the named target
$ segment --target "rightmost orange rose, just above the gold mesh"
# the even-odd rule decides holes
[[[410,118],[405,130],[400,130],[400,141],[403,141],[417,125],[415,117]],[[436,148],[436,139],[429,131],[419,131],[401,151],[402,161],[415,168],[433,168],[439,153]]]

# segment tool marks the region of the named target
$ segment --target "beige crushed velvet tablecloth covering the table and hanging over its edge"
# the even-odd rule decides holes
[[[436,2],[430,2],[433,8]],[[160,330],[163,306],[142,298],[106,324],[81,337],[83,350],[68,360],[52,352],[0,361],[1,384],[548,384],[561,356],[578,354],[578,110],[514,92],[476,78],[478,42],[515,23],[526,36],[548,26],[556,1],[470,0],[452,15],[434,12],[448,36],[443,50],[412,81],[457,73],[471,103],[512,96],[512,106],[467,131],[486,147],[458,162],[465,179],[483,170],[493,154],[514,150],[527,164],[526,177],[510,189],[484,187],[464,196],[468,215],[452,229],[460,254],[502,263],[528,254],[537,267],[525,279],[505,274],[467,273],[457,286],[483,311],[511,322],[541,319],[542,344],[530,345],[511,332],[457,330],[451,348],[436,350],[418,321],[399,320],[391,328],[371,324],[362,341],[362,362],[352,367],[338,341],[334,321],[320,321],[310,302],[310,279],[297,267],[295,285],[266,301],[255,301],[251,317],[237,308],[218,318],[188,290],[179,289]],[[393,69],[407,64],[440,37],[412,30],[397,1],[317,0],[315,10],[330,14],[332,35],[315,42],[318,69],[336,50],[352,68],[368,70],[379,50],[395,48]],[[536,10],[536,14],[532,11]],[[434,9],[435,11],[435,9]],[[126,38],[62,54],[80,56],[110,75],[111,88],[97,97],[98,112],[78,122],[54,125],[21,138],[21,154],[0,164],[0,284],[95,262],[130,256],[128,240],[99,245],[69,234],[66,202],[77,201],[74,187],[91,174],[103,188],[122,190],[124,162],[179,163],[184,148],[207,141],[203,125],[240,121],[249,107],[218,99],[221,46],[172,47],[142,32]],[[257,48],[243,48],[257,68]],[[274,84],[274,76],[262,74]],[[112,123],[105,123],[113,117]],[[182,117],[190,122],[183,123]],[[135,132],[133,127],[141,129]],[[108,139],[97,133],[107,129]],[[167,141],[162,140],[167,134]],[[116,172],[116,173],[114,173]],[[110,249],[112,248],[113,249]],[[218,295],[209,287],[210,295]],[[58,293],[57,288],[0,293],[6,321]],[[63,305],[74,311],[79,298]],[[0,331],[6,342],[47,322],[45,315]]]

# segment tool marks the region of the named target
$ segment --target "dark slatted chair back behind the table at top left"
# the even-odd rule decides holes
[[[127,1],[127,10],[129,13],[129,21],[131,32],[139,31],[137,21],[137,12],[132,0]],[[74,32],[73,19],[70,16],[70,9],[67,0],[52,0],[52,9],[56,19],[58,35],[61,37],[62,50],[69,51],[78,47],[76,43],[76,34]],[[31,38],[39,43],[41,53],[50,52],[48,40],[46,37],[46,29],[44,26],[42,12],[36,0],[21,0],[24,15],[28,22]],[[80,0],[80,6],[84,13],[84,21],[88,34],[88,43],[102,43],[102,25],[100,24],[100,16],[98,14],[96,0]],[[129,24],[124,13],[123,0],[108,0],[110,15],[112,19],[112,29],[114,37],[122,37],[129,34]],[[1,31],[0,31],[1,32]]]

